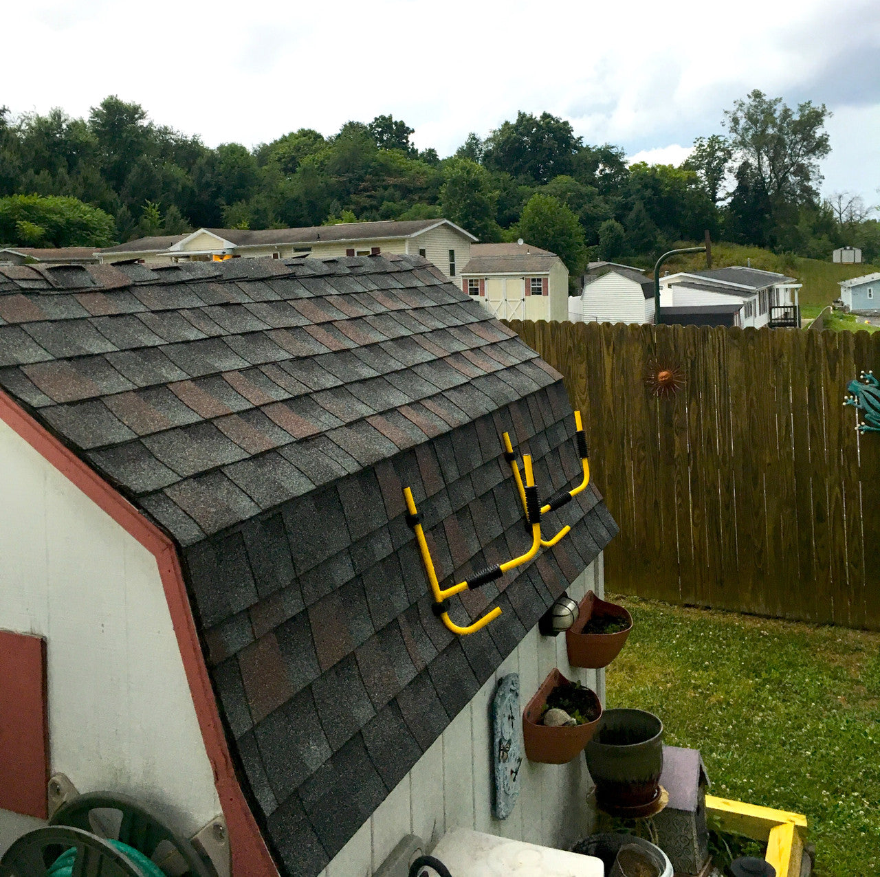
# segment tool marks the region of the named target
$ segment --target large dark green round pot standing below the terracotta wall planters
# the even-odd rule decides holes
[[[606,710],[583,750],[605,808],[641,808],[660,795],[663,722],[644,710]]]

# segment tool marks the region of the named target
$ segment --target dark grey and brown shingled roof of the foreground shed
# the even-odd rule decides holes
[[[0,267],[0,387],[172,535],[282,873],[319,873],[617,528],[594,488],[521,552],[500,435],[576,483],[561,376],[419,257]]]

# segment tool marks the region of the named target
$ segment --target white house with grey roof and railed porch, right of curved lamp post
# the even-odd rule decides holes
[[[798,290],[793,277],[740,265],[706,271],[681,271],[660,278],[660,308],[707,307],[742,303],[734,325],[771,328],[800,325]]]

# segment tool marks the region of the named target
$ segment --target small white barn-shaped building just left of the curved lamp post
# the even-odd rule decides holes
[[[653,323],[654,281],[638,268],[591,262],[580,296],[568,299],[573,323]]]

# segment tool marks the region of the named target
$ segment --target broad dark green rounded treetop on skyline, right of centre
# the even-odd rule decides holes
[[[505,121],[488,136],[483,164],[513,177],[546,183],[572,172],[581,146],[569,122],[550,113],[519,112],[517,121]]]

